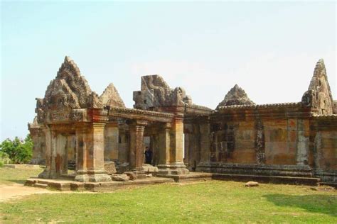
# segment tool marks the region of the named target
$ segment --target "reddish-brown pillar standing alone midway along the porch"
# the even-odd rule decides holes
[[[134,121],[130,124],[129,170],[139,179],[146,177],[143,169],[145,125],[144,121]]]

